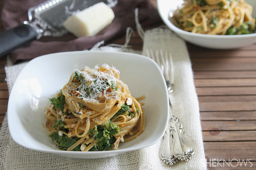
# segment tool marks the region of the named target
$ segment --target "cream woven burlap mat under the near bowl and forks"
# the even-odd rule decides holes
[[[29,150],[12,140],[6,116],[0,130],[0,170],[206,170],[198,98],[186,43],[166,28],[145,31],[142,37],[144,41],[142,51],[109,46],[92,50],[123,51],[146,55],[147,49],[161,49],[172,53],[175,69],[175,91],[172,95],[172,104],[177,116],[183,122],[184,135],[195,150],[190,161],[181,161],[173,166],[165,164],[159,157],[163,140],[150,147],[104,159],[71,159]],[[9,91],[26,64],[27,62],[12,65],[8,61],[5,70]]]

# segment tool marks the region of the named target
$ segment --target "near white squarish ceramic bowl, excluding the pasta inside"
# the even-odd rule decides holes
[[[45,127],[49,99],[67,84],[74,69],[107,64],[120,72],[134,98],[145,95],[141,102],[145,113],[145,130],[135,139],[120,142],[117,150],[59,150]],[[152,81],[154,77],[154,81]],[[138,54],[103,51],[74,51],[32,59],[17,77],[8,102],[8,126],[12,139],[23,147],[81,159],[115,156],[148,147],[159,141],[168,123],[169,100],[166,83],[157,64]]]

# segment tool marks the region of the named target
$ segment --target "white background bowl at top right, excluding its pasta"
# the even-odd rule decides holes
[[[211,0],[208,0],[209,2]],[[250,4],[253,8],[252,17],[256,17],[256,1],[244,0]],[[214,49],[232,49],[240,48],[246,45],[256,42],[256,33],[252,34],[240,34],[240,35],[209,35],[198,34],[189,31],[184,31],[177,26],[177,21],[174,18],[175,12],[178,6],[181,6],[183,0],[157,0],[157,8],[163,22],[178,36],[195,45],[199,45],[206,48]],[[218,5],[216,5],[218,6]],[[213,22],[214,24],[214,22]]]

